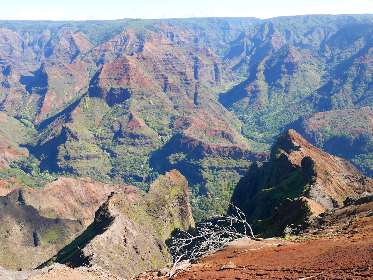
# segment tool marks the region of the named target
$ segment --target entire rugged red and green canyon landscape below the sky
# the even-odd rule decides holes
[[[150,279],[230,201],[276,240],[229,243],[195,278],[367,276],[372,30],[369,14],[0,21],[0,274],[97,277],[100,256]]]

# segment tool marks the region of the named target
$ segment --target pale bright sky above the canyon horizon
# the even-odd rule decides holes
[[[373,13],[373,0],[1,0],[0,19],[255,17]]]

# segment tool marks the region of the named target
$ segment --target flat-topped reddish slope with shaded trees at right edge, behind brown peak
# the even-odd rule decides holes
[[[347,159],[373,176],[372,110],[370,108],[310,113],[295,123],[305,139],[328,153]]]

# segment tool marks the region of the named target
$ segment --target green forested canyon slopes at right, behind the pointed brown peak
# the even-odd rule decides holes
[[[254,149],[269,150],[281,133],[294,128],[308,134],[326,152],[373,176],[369,135],[356,138],[364,131],[372,135],[368,115],[373,66],[364,60],[371,57],[366,42],[372,22],[365,15],[289,16],[247,28],[226,56],[234,61],[245,55],[242,63],[232,67],[243,81],[229,85],[219,101],[244,122],[242,133]],[[326,26],[334,28],[332,37],[317,34],[316,30]],[[279,41],[270,43],[268,35],[261,33],[266,28],[277,32],[280,45]],[[257,41],[257,36],[263,38]],[[247,49],[240,53],[243,43]],[[323,114],[317,119],[317,114],[311,115],[315,112]],[[317,128],[313,130],[312,125]]]

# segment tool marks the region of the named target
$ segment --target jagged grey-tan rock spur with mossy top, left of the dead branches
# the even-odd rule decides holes
[[[194,220],[188,182],[172,170],[160,175],[149,192],[134,203],[128,202],[121,191],[110,195],[96,212],[94,223],[63,248],[56,261],[75,267],[90,259],[102,265],[90,256],[92,253],[122,275],[133,275],[170,263],[165,241],[175,228],[194,228]]]

